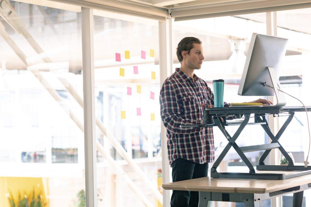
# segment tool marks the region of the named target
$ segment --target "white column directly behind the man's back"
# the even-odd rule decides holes
[[[159,21],[159,55],[160,55],[160,88],[164,80],[172,74],[172,19],[165,22]],[[162,182],[169,181],[169,161],[167,159],[167,137],[166,128],[161,121],[161,147],[162,147]],[[163,206],[170,206],[169,190],[163,189]]]

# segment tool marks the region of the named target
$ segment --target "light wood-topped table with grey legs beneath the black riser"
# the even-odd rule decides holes
[[[290,172],[286,172],[290,173]],[[293,207],[301,207],[304,190],[311,188],[311,175],[287,180],[197,178],[163,184],[165,190],[199,191],[199,207],[208,201],[244,202],[245,207],[259,207],[262,200],[294,193]]]

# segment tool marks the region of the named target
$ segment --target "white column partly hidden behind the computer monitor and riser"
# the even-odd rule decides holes
[[[267,35],[277,36],[276,11],[266,12],[266,23],[267,23]],[[276,98],[274,96],[270,96],[268,100],[272,101],[273,103],[276,102]],[[274,135],[276,135],[276,133],[280,129],[278,117],[273,117],[273,115],[269,115],[269,128],[271,129],[271,132]],[[270,164],[271,165],[278,164],[280,156],[281,154],[279,150],[272,149],[269,154]],[[271,199],[271,207],[281,207],[281,204],[282,204],[281,196]]]

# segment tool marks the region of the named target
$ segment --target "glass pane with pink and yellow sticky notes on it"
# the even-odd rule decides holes
[[[96,137],[154,206],[159,203],[151,188],[161,190],[162,184],[158,34],[155,20],[94,16],[95,91],[100,97],[96,115],[106,129],[97,127]],[[111,138],[117,140],[152,185],[124,160]],[[103,157],[98,156],[97,162],[103,205],[144,206]]]

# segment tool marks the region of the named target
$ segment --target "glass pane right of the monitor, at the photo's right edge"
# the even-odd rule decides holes
[[[310,8],[277,11],[277,36],[288,39],[287,50],[281,70],[280,82],[283,91],[301,100],[305,106],[311,105],[307,95],[310,90],[310,51],[311,25],[309,21]],[[285,94],[287,106],[302,106],[302,104]],[[280,127],[287,119],[286,114],[280,117]],[[295,141],[293,141],[295,137]],[[309,150],[309,133],[305,112],[296,112],[285,133],[280,138],[285,150],[291,152],[295,164],[303,165]],[[281,155],[282,156],[282,155]],[[303,206],[311,205],[310,192],[304,191]],[[282,206],[290,206],[293,195],[282,197]]]

